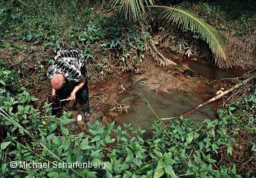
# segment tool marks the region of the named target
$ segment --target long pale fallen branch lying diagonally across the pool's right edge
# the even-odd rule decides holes
[[[182,116],[183,117],[187,117],[188,115],[191,115],[193,112],[197,111],[198,109],[200,109],[201,107],[206,106],[207,104],[210,104],[213,101],[216,101],[219,98],[222,98],[222,96],[225,96],[227,93],[230,93],[231,91],[235,90],[236,88],[241,87],[242,85],[246,84],[247,82],[249,82],[250,80],[254,79],[255,76],[250,77],[249,79],[246,79],[240,83],[238,83],[237,85],[233,86],[233,88],[230,88],[228,90],[225,90],[225,92],[220,93],[217,96],[214,96],[214,98],[209,99],[208,101],[204,102],[203,104],[199,104],[197,107],[195,107],[192,110],[189,110],[188,112],[185,112]]]

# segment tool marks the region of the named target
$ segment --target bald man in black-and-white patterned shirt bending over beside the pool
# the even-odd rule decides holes
[[[77,100],[86,117],[90,117],[89,88],[86,66],[80,50],[62,49],[54,57],[47,76],[52,86],[52,96]]]

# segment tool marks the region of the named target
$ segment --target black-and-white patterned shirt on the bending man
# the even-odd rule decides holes
[[[47,76],[51,79],[54,74],[64,74],[67,80],[79,82],[82,77],[80,68],[83,65],[83,54],[80,50],[59,50],[47,71]],[[83,76],[86,78],[87,74]]]

